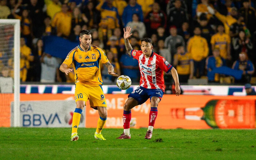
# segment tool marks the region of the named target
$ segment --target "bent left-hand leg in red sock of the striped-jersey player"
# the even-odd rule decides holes
[[[124,104],[124,114],[123,114],[123,126],[124,132],[117,139],[130,139],[130,121],[131,121],[131,109],[138,105],[138,101],[132,97],[129,97]]]

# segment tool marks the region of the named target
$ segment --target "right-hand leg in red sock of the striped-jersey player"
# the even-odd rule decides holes
[[[151,100],[150,100],[151,110],[149,113],[148,129],[145,136],[146,139],[151,139],[152,137],[155,120],[157,119],[157,113],[158,113],[157,106],[159,102],[160,102],[160,98],[156,96],[151,97]]]

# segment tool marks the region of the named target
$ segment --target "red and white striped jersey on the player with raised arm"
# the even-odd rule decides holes
[[[168,73],[173,66],[155,52],[146,58],[142,50],[131,50],[131,56],[139,62],[140,86],[148,89],[160,88],[165,91],[163,71]]]

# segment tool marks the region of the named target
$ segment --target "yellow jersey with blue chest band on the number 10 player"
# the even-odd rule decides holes
[[[102,85],[101,70],[99,62],[107,63],[109,60],[103,50],[97,46],[91,45],[85,52],[80,45],[72,49],[64,64],[68,66],[72,63],[75,72],[75,83]]]

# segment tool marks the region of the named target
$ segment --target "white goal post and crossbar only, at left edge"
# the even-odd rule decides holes
[[[0,19],[0,24],[14,25],[14,127],[20,127],[20,20]],[[11,113],[12,114],[12,113]]]

